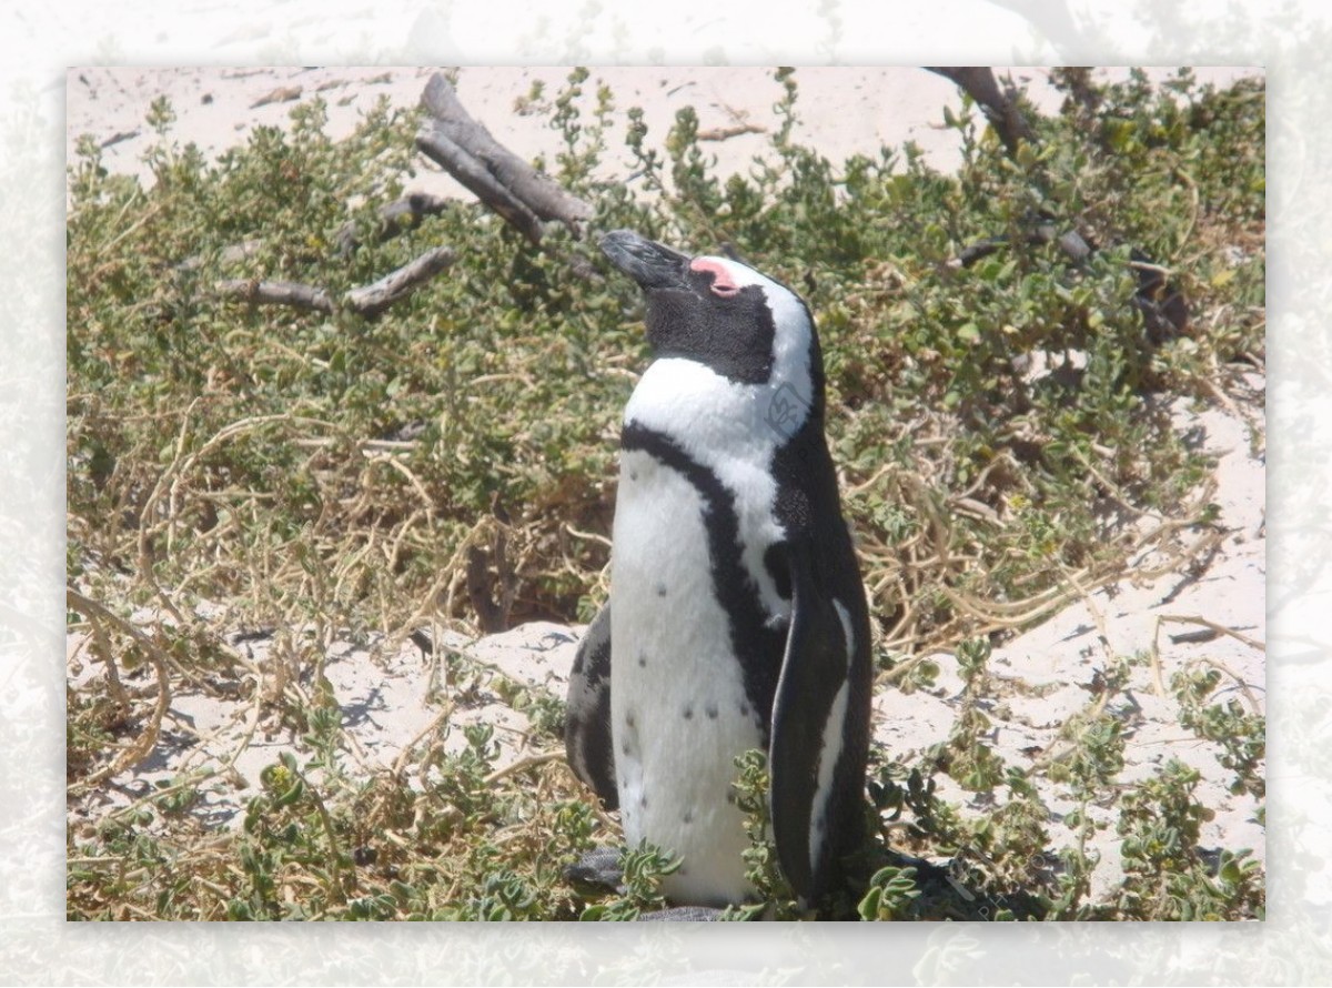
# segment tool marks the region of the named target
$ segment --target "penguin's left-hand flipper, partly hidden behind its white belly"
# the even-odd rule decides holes
[[[587,627],[569,674],[565,752],[574,775],[607,810],[619,806],[615,748],[610,739],[610,603]]]

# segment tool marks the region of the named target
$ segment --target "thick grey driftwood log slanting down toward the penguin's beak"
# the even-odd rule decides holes
[[[448,79],[432,76],[421,105],[429,119],[417,134],[417,148],[523,237],[539,244],[542,222],[549,221],[581,233],[579,224],[593,208],[496,141],[464,109]]]

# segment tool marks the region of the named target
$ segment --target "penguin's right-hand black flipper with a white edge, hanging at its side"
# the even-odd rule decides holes
[[[793,549],[790,573],[791,622],[769,744],[773,836],[791,888],[815,904],[858,839],[868,643],[854,640],[854,611],[817,586],[809,549]]]

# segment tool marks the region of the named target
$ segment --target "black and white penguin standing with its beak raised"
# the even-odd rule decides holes
[[[771,827],[815,904],[862,838],[870,619],[823,435],[805,302],[725,257],[627,230],[654,361],[625,409],[610,602],[579,644],[567,751],[625,839],[682,862],[663,895],[753,893],[737,755],[769,755]]]

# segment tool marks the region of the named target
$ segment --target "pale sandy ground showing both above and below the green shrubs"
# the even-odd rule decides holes
[[[563,69],[464,69],[458,91],[464,104],[494,136],[526,157],[553,154],[557,136],[533,125],[533,119],[514,111],[515,100],[534,81],[553,95]],[[1167,71],[1154,71],[1160,79]],[[1224,83],[1239,69],[1199,73]],[[330,132],[348,133],[377,99],[412,105],[429,76],[416,68],[281,68],[281,69],[107,69],[75,68],[68,76],[68,128],[71,152],[80,134],[103,145],[104,164],[112,170],[144,177],[141,156],[152,132],[144,124],[148,104],[169,96],[177,113],[174,136],[194,142],[216,156],[244,141],[254,126],[282,125],[296,100],[314,96],[328,103]],[[1028,85],[1038,105],[1058,103],[1040,69],[1014,69],[1016,81]],[[781,95],[767,69],[597,69],[617,95],[617,107],[642,105],[650,133],[665,136],[675,111],[686,104],[699,112],[701,130],[753,126],[757,133],[718,140],[715,148],[723,170],[747,166],[775,125],[771,104]],[[852,152],[878,153],[880,144],[916,141],[931,164],[940,169],[956,164],[954,134],[938,128],[943,107],[956,109],[960,100],[946,80],[920,69],[801,69],[801,140],[819,146],[838,160]],[[614,161],[607,168],[617,168]],[[466,194],[433,166],[422,166],[421,188],[445,194]],[[1135,666],[1127,694],[1114,700],[1128,732],[1123,780],[1142,779],[1169,758],[1196,767],[1204,778],[1200,796],[1217,814],[1203,834],[1204,847],[1253,848],[1264,855],[1264,834],[1256,822],[1256,803],[1227,790],[1229,774],[1215,758],[1215,748],[1197,742],[1177,720],[1168,683],[1173,672],[1205,662],[1227,671],[1225,695],[1265,707],[1263,651],[1253,642],[1265,638],[1264,578],[1264,381],[1252,375],[1249,401],[1232,409],[1196,413],[1187,403],[1175,409],[1177,427],[1217,459],[1216,491],[1219,525],[1225,538],[1201,569],[1171,573],[1155,579],[1124,581],[1100,589],[1080,603],[1050,618],[995,651],[994,675],[1015,688],[996,708],[987,711],[995,724],[990,739],[1010,764],[1026,767],[1051,750],[1067,719],[1086,708],[1086,688],[1098,667],[1116,656],[1148,655],[1159,648],[1159,667]],[[1144,557],[1142,566],[1150,569]],[[1164,620],[1163,620],[1164,619]],[[1236,635],[1220,634],[1207,640],[1196,634],[1211,622]],[[298,631],[297,631],[298,632]],[[440,690],[440,668],[412,644],[386,648],[372,640],[364,647],[334,646],[325,674],[344,710],[349,736],[348,756],[365,772],[389,767],[404,750],[417,743],[452,708],[446,747],[464,743],[466,723],[490,723],[502,746],[501,763],[533,754],[527,722],[505,700],[513,687],[534,687],[563,695],[579,628],[529,624],[502,635],[470,640],[450,635],[445,662],[461,662],[469,672],[466,702],[458,703]],[[246,662],[262,663],[272,640],[236,640]],[[68,644],[69,679],[75,688],[101,675],[87,659],[85,643],[72,636]],[[875,702],[876,739],[898,756],[911,759],[943,740],[952,727],[959,704],[960,679],[952,656],[939,656],[943,670],[939,687],[906,695],[895,688]],[[1160,684],[1166,684],[1166,690]],[[264,723],[252,704],[225,704],[182,688],[173,696],[161,743],[140,764],[71,806],[75,832],[92,826],[109,810],[139,799],[157,784],[184,772],[209,775],[202,800],[193,808],[210,824],[238,826],[244,802],[257,792],[258,774],[294,750],[289,730]],[[944,792],[968,802],[975,812],[986,803],[972,794]],[[1071,804],[1059,792],[1043,798],[1055,811]],[[1114,808],[1094,814],[1108,826],[1095,842],[1104,855],[1098,871],[1098,892],[1118,880],[1118,838]],[[1068,842],[1066,828],[1052,822],[1056,846]],[[1063,834],[1063,839],[1060,839]]]

